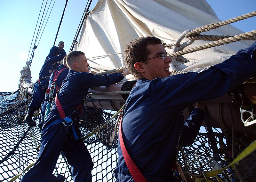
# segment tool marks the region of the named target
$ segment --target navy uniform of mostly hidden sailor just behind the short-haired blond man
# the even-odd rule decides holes
[[[51,87],[52,85],[52,81],[53,81],[53,76],[54,76],[54,73],[57,71],[57,74],[62,70],[64,69],[60,75],[58,76],[57,80],[56,80],[56,85],[60,88],[60,86],[62,85],[63,81],[66,79],[67,75],[68,75],[68,68],[64,65],[60,65],[58,69],[55,69],[53,72],[52,72],[52,75],[50,76],[50,80],[49,80],[49,84],[48,84],[48,88]],[[57,93],[57,90],[56,90],[56,87],[54,89],[54,93],[52,95],[53,98],[55,98],[55,95]],[[45,97],[45,101],[44,101],[44,104],[41,108],[41,115],[44,117],[44,113],[45,113],[45,108],[46,108],[46,105],[48,104],[50,98],[49,98],[49,94],[46,95]]]

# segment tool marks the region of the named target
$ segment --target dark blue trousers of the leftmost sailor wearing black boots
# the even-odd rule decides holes
[[[36,110],[41,106],[42,101],[44,101],[45,92],[48,89],[49,80],[50,78],[46,78],[41,82],[36,82],[33,98],[28,107],[34,107]]]

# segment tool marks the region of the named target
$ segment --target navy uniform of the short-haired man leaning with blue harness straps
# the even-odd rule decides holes
[[[76,110],[90,87],[108,86],[121,81],[123,78],[124,76],[121,73],[94,76],[91,73],[69,70],[58,94],[66,116]],[[21,182],[48,181],[60,152],[67,158],[68,164],[71,165],[74,182],[92,181],[92,158],[84,142],[80,136],[78,140],[75,140],[72,127],[65,127],[61,122],[53,125],[53,122],[58,120],[61,120],[60,115],[53,101],[51,112],[45,118],[42,128],[41,148],[38,158],[34,166],[23,176]],[[79,123],[75,121],[74,124],[78,125]],[[76,133],[78,134],[78,131]]]

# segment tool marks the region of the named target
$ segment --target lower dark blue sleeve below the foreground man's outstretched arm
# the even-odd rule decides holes
[[[188,146],[194,142],[204,120],[205,113],[199,108],[193,109],[187,120],[184,121],[184,127],[180,135],[181,146]]]

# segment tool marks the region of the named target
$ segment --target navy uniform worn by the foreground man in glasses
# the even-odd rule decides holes
[[[122,130],[127,152],[148,182],[173,181],[175,146],[184,128],[180,111],[218,98],[249,80],[256,72],[255,49],[256,43],[200,73],[137,81],[127,99]],[[114,176],[119,182],[134,181],[119,142],[117,152]]]

